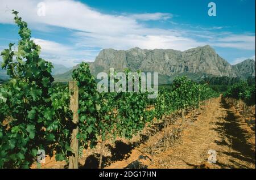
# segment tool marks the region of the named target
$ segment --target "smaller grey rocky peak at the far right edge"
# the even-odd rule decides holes
[[[255,61],[253,59],[246,59],[237,65],[233,65],[233,70],[236,71],[237,76],[243,79],[255,76]]]

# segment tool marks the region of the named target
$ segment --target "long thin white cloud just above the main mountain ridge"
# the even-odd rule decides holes
[[[187,50],[196,46],[205,45],[191,38],[171,35],[125,35],[104,36],[91,33],[77,32],[76,37],[80,41],[90,42],[90,45],[102,48],[130,49],[138,46],[142,49],[177,49]]]

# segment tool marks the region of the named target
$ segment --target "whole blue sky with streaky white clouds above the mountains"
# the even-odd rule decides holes
[[[209,16],[210,2],[216,16]],[[255,0],[0,0],[0,50],[19,40],[11,10],[47,61],[94,61],[105,48],[187,50],[210,45],[232,65],[255,59]],[[0,59],[1,60],[1,59]]]

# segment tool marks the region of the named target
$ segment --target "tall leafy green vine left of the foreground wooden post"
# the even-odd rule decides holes
[[[19,27],[18,50],[14,44],[1,52],[2,68],[10,81],[0,87],[0,168],[29,168],[38,149],[63,160],[69,148],[67,89],[53,89],[52,64],[39,57],[27,23],[13,11]]]

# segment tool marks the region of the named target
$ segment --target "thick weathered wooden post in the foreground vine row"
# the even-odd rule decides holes
[[[70,98],[70,109],[73,112],[73,123],[77,124],[79,122],[79,88],[77,87],[77,82],[69,82],[69,92],[71,93]],[[76,138],[77,133],[79,132],[79,127],[73,129],[71,135],[71,148],[73,151],[73,156],[69,157],[69,169],[78,169],[78,149],[79,149],[79,140]]]

